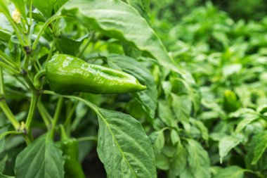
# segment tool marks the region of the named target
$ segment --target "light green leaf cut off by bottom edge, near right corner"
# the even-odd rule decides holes
[[[233,165],[220,170],[214,178],[243,178],[244,172],[241,167]]]

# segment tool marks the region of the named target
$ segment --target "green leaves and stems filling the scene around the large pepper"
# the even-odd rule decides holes
[[[0,12],[0,177],[97,177],[82,164],[95,152],[106,177],[267,176],[266,19],[207,4],[173,25],[150,21],[148,0],[0,0]],[[57,94],[44,76],[56,54],[147,89]]]

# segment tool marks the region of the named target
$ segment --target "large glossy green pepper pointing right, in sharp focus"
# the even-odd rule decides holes
[[[65,54],[55,55],[48,61],[46,77],[51,89],[61,94],[122,94],[146,89],[126,72],[86,63],[80,58]]]

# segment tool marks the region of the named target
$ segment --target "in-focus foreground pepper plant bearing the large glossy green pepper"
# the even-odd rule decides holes
[[[1,0],[0,4],[1,176],[85,177],[77,141],[96,141],[108,177],[156,177],[152,144],[141,123],[119,104],[108,109],[94,104],[131,101],[147,111],[145,117],[152,124],[157,87],[150,70],[157,61],[178,69],[148,22],[123,1]],[[149,6],[139,5],[144,13]],[[57,58],[71,60],[57,63]],[[25,108],[9,108],[9,103],[20,101]],[[98,134],[87,128],[83,137],[74,136],[85,117],[81,107],[91,109],[86,116],[94,118],[91,125],[96,125],[97,115]]]

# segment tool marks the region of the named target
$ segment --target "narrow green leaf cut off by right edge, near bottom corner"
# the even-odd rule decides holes
[[[256,165],[259,158],[263,155],[264,151],[267,149],[267,132],[257,134],[258,142],[256,142],[256,147],[254,148],[254,156],[252,160],[252,165]]]

